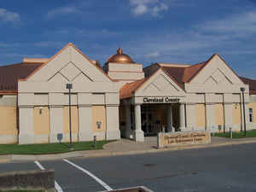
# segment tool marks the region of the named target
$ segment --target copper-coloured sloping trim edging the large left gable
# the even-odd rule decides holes
[[[33,73],[31,73],[29,76],[26,77],[26,79],[23,80],[27,80],[30,79],[34,74],[38,73],[38,71],[40,71],[41,68],[45,67],[50,61],[53,61],[58,55],[61,55],[62,52],[64,52],[66,49],[68,49],[69,47],[73,47],[73,49],[77,50],[79,52],[80,55],[83,55],[84,58],[86,60],[88,60],[90,62],[91,65],[95,66],[103,75],[105,75],[108,79],[110,79],[111,81],[113,81],[113,79],[111,79],[108,74],[106,74],[103,70],[102,67],[98,66],[96,64],[96,62],[91,61],[86,55],[84,55],[84,53],[79,50],[78,48],[76,48],[72,43],[67,44],[66,46],[64,46],[60,51],[58,51],[55,55],[53,55],[48,61],[44,62],[43,65],[41,65],[40,67],[37,68],[37,70],[35,70]]]

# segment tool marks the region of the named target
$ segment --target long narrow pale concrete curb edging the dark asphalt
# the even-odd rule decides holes
[[[61,160],[65,158],[94,158],[94,157],[107,157],[107,156],[119,156],[119,155],[131,155],[131,154],[150,154],[150,153],[160,153],[167,151],[178,151],[178,150],[186,150],[186,149],[195,149],[195,148],[217,148],[224,147],[230,145],[238,145],[238,144],[248,144],[248,143],[256,143],[255,140],[249,141],[239,141],[239,142],[225,142],[225,143],[209,143],[209,144],[200,144],[200,145],[184,145],[177,146],[172,148],[154,148],[147,150],[133,150],[127,152],[100,152],[97,151],[96,154],[83,154],[86,151],[78,151],[77,153],[66,153],[66,154],[42,154],[42,155],[22,155],[22,154],[10,154],[10,155],[0,155],[0,164],[1,163],[9,163],[9,162],[17,162],[17,161],[30,161],[30,160]]]

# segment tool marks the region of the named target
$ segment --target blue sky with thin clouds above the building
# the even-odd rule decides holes
[[[103,64],[119,47],[151,62],[214,53],[256,79],[256,0],[2,0],[0,65],[50,57],[69,42]]]

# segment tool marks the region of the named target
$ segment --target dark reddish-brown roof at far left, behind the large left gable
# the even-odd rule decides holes
[[[43,63],[17,63],[0,67],[0,93],[17,93],[18,79],[26,77]]]

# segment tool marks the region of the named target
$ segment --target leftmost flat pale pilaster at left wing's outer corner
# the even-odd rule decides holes
[[[34,143],[33,107],[19,108],[19,144]]]

